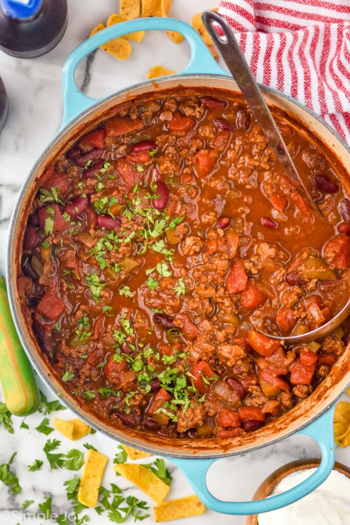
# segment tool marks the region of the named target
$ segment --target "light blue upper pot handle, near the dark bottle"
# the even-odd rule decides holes
[[[102,100],[87,97],[79,91],[74,78],[75,70],[79,62],[89,53],[92,53],[92,51],[112,38],[120,37],[128,33],[134,33],[135,31],[148,31],[154,29],[177,31],[177,33],[181,33],[186,38],[190,47],[191,57],[182,74],[228,75],[227,72],[217,64],[213,56],[211,56],[210,51],[198,35],[197,31],[192,26],[181,20],[176,20],[175,18],[152,17],[137,18],[135,20],[128,20],[127,22],[114,24],[83,41],[83,43],[76,47],[67,58],[62,71],[63,119],[61,129],[79,113],[85,111],[99,100]]]

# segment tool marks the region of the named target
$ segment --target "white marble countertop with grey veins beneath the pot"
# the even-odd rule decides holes
[[[0,53],[0,75],[2,76],[9,99],[9,116],[6,126],[0,134],[0,271],[5,268],[5,246],[8,230],[8,220],[12,211],[20,185],[25,180],[26,174],[35,162],[44,146],[54,137],[58,130],[62,115],[61,101],[61,70],[63,62],[84,38],[87,38],[92,27],[99,22],[107,20],[108,16],[116,10],[118,2],[115,0],[68,0],[69,22],[65,36],[61,43],[48,55],[33,60],[21,60]],[[187,22],[192,15],[204,8],[213,7],[211,0],[177,0],[174,2],[171,14]],[[190,6],[190,7],[188,7]],[[118,61],[111,56],[98,51],[90,66],[90,82],[87,94],[101,97],[128,86],[132,83],[146,79],[147,71],[156,64],[181,71],[189,58],[188,46],[185,42],[176,46],[162,33],[152,33],[145,36],[142,44],[133,45],[132,56],[124,61]],[[82,64],[77,75],[77,82],[81,85],[87,71]],[[40,388],[47,393],[45,385],[40,383]],[[1,398],[1,396],[0,396]],[[52,399],[52,395],[49,396]],[[348,396],[344,399],[350,401]],[[69,411],[53,413],[47,416],[52,423],[52,418],[57,415],[69,419]],[[131,487],[122,477],[115,478],[112,470],[112,459],[116,453],[116,443],[99,434],[71,443],[61,437],[57,431],[50,436],[40,434],[35,427],[43,420],[43,414],[34,414],[26,419],[29,429],[20,429],[21,420],[13,417],[15,433],[8,434],[0,426],[0,465],[7,463],[10,456],[16,451],[12,470],[18,476],[22,491],[18,495],[9,492],[0,483],[0,522],[20,523],[29,521],[24,513],[20,514],[20,505],[26,500],[34,500],[27,512],[37,512],[38,503],[52,496],[52,512],[57,514],[70,509],[67,501],[63,482],[71,479],[73,475],[81,472],[71,472],[65,469],[50,470],[43,446],[47,438],[62,440],[60,451],[65,452],[71,448],[82,451],[83,443],[91,443],[109,456],[110,461],[105,473],[103,485],[109,487],[110,482],[115,482],[122,489],[124,495],[135,495],[140,499],[151,501],[142,495],[142,492]],[[313,457],[319,455],[319,449],[312,439],[305,436],[293,436],[281,443],[260,449],[255,453],[227,458],[218,461],[211,467],[208,475],[208,487],[217,497],[226,500],[248,500],[260,482],[272,470],[292,461],[293,459]],[[337,447],[338,461],[350,464],[350,447],[342,450]],[[43,467],[36,472],[29,472],[27,466],[34,459],[44,461]],[[173,475],[170,498],[188,496],[193,493],[182,473],[168,464]],[[98,516],[96,511],[89,510],[90,523],[104,525],[110,523],[104,514]],[[213,521],[220,525],[243,525],[245,517],[225,516],[206,510],[203,516],[179,520],[178,525],[205,525]],[[30,519],[31,523],[43,523],[43,520]],[[45,522],[45,521],[44,521]],[[48,523],[49,521],[46,521]],[[132,519],[129,518],[129,522]],[[151,517],[145,523],[154,523]]]

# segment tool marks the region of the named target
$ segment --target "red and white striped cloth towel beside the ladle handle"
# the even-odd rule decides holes
[[[258,82],[299,100],[350,144],[350,0],[222,0]]]

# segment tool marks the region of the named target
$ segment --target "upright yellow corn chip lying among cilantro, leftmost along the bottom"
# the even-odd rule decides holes
[[[78,501],[82,505],[96,507],[107,461],[108,458],[97,450],[88,450],[78,490]]]

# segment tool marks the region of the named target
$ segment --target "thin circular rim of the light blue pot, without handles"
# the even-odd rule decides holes
[[[149,453],[153,453],[155,455],[168,456],[168,457],[173,457],[173,458],[220,459],[220,458],[227,457],[227,456],[236,456],[236,455],[240,455],[240,454],[245,454],[247,451],[253,451],[253,450],[257,450],[259,448],[263,448],[264,446],[273,445],[273,444],[279,442],[280,440],[282,440],[284,438],[290,437],[291,435],[300,432],[302,429],[304,429],[307,426],[309,426],[311,423],[316,421],[316,419],[320,418],[325,412],[327,412],[328,409],[330,409],[331,406],[338,400],[338,398],[341,397],[343,392],[346,390],[347,385],[345,384],[345,386],[343,386],[341,388],[341,390],[336,393],[336,395],[332,398],[332,400],[329,403],[327,403],[324,407],[322,407],[315,415],[311,416],[310,419],[307,419],[307,421],[301,423],[296,428],[291,428],[290,430],[287,430],[286,432],[283,433],[283,435],[277,435],[277,437],[273,437],[272,439],[269,438],[268,442],[266,442],[266,443],[262,443],[262,444],[258,444],[258,445],[254,445],[254,443],[252,443],[250,445],[247,445],[247,447],[245,449],[242,449],[241,447],[238,447],[238,449],[236,449],[236,450],[235,449],[229,449],[227,451],[217,451],[215,453],[209,453],[209,454],[207,453],[206,450],[199,451],[199,453],[197,452],[197,453],[190,454],[189,451],[188,451],[188,453],[181,454],[181,453],[177,453],[177,452],[174,452],[174,451],[165,451],[165,447],[163,447],[164,449],[162,450],[162,449],[158,449],[156,447],[152,448],[152,445],[147,446],[147,442],[145,441],[145,438],[142,437],[141,433],[140,433],[139,439],[142,439],[142,443],[141,444],[139,444],[139,443],[135,444],[133,442],[133,440],[131,440],[131,439],[128,440],[126,438],[126,434],[124,434],[124,433],[121,433],[121,436],[119,436],[119,435],[116,436],[116,435],[112,434],[111,432],[113,430],[114,430],[114,432],[120,432],[119,429],[111,427],[111,426],[109,426],[107,424],[103,424],[99,420],[99,418],[97,416],[95,416],[92,412],[84,411],[84,409],[82,407],[79,407],[79,405],[73,405],[73,403],[72,403],[73,400],[71,400],[71,396],[66,393],[65,388],[63,386],[61,386],[61,385],[59,385],[59,386],[61,387],[62,393],[59,392],[59,394],[58,394],[58,392],[57,392],[57,390],[56,390],[52,380],[50,380],[50,377],[52,377],[52,374],[49,373],[48,376],[47,376],[44,373],[44,370],[39,365],[39,362],[35,359],[35,355],[37,354],[36,349],[33,348],[33,345],[31,345],[31,344],[29,344],[27,342],[28,331],[25,331],[25,330],[22,329],[22,323],[23,324],[25,324],[25,323],[23,322],[23,319],[19,315],[20,309],[19,309],[19,305],[18,305],[18,301],[17,301],[17,290],[16,290],[16,286],[15,286],[14,276],[12,276],[12,260],[13,260],[13,258],[15,258],[15,254],[13,252],[14,252],[14,250],[16,248],[15,241],[16,241],[16,238],[17,238],[17,235],[18,235],[18,231],[17,231],[18,230],[18,225],[16,225],[16,221],[17,221],[17,217],[19,216],[20,207],[22,206],[23,200],[26,197],[27,191],[29,190],[30,186],[33,185],[33,182],[35,181],[35,175],[36,175],[36,172],[38,170],[38,167],[44,161],[44,159],[48,156],[50,151],[55,148],[55,145],[59,144],[59,142],[61,141],[62,137],[66,133],[68,133],[69,131],[72,131],[74,128],[76,128],[76,124],[78,123],[78,121],[80,121],[83,118],[86,118],[89,115],[89,113],[93,113],[94,111],[97,111],[97,110],[103,108],[104,106],[108,106],[108,103],[110,103],[114,98],[125,96],[125,100],[132,99],[135,96],[135,95],[133,95],[133,91],[135,89],[140,89],[140,88],[143,88],[143,87],[146,88],[146,87],[153,86],[155,88],[155,90],[156,90],[156,87],[162,86],[163,83],[166,83],[167,81],[174,81],[175,80],[175,81],[181,82],[181,80],[189,80],[189,79],[198,79],[198,80],[199,79],[203,79],[203,80],[206,80],[206,79],[220,80],[221,79],[221,80],[225,80],[225,81],[227,81],[227,80],[234,81],[234,79],[232,77],[230,77],[229,75],[187,74],[187,75],[173,75],[171,77],[165,77],[165,78],[162,78],[162,79],[158,80],[157,82],[154,82],[154,80],[147,80],[147,81],[144,81],[144,82],[139,82],[139,83],[134,84],[133,86],[130,86],[130,87],[124,88],[122,90],[116,91],[116,92],[112,93],[111,95],[109,95],[109,96],[107,96],[105,98],[97,100],[95,103],[92,103],[90,107],[88,107],[87,109],[85,109],[82,112],[80,112],[79,114],[77,114],[75,117],[73,117],[67,123],[65,123],[65,125],[63,125],[62,127],[59,128],[59,130],[58,130],[57,134],[55,135],[55,137],[49,142],[49,144],[47,145],[47,147],[45,148],[43,153],[40,154],[40,156],[38,157],[37,161],[35,162],[35,164],[31,168],[31,170],[27,174],[27,176],[25,178],[25,181],[24,181],[22,187],[20,188],[20,191],[19,191],[18,196],[16,198],[16,203],[14,205],[13,212],[12,212],[12,215],[10,217],[9,228],[8,228],[8,240],[7,240],[7,249],[6,249],[6,281],[7,281],[7,287],[8,287],[7,288],[7,292],[8,292],[8,300],[9,300],[10,311],[12,313],[13,321],[14,321],[14,324],[15,324],[16,331],[18,333],[20,342],[23,345],[23,348],[24,348],[25,353],[26,353],[26,355],[27,355],[27,357],[28,357],[28,359],[30,361],[30,364],[34,367],[34,370],[39,375],[40,379],[46,384],[46,386],[49,388],[49,390],[56,397],[59,398],[60,402],[63,405],[65,405],[67,408],[69,408],[73,413],[75,413],[77,416],[79,416],[79,418],[81,418],[85,423],[87,423],[92,428],[98,430],[99,432],[102,432],[103,435],[105,435],[105,436],[108,436],[108,437],[110,437],[110,438],[112,438],[114,440],[118,440],[118,442],[120,442],[122,444],[133,446],[133,447],[136,446],[140,450],[143,450],[143,451],[146,451],[146,452],[149,452]],[[274,88],[269,87],[269,86],[264,86],[262,84],[259,84],[259,86],[260,86],[260,88],[263,91],[267,91],[269,93],[272,93],[272,95],[277,95],[278,97],[280,97],[280,98],[290,102],[292,105],[298,107],[303,112],[308,113],[312,118],[317,120],[322,127],[326,128],[333,135],[334,139],[336,141],[340,142],[341,145],[347,151],[347,153],[350,155],[350,147],[347,145],[345,140],[342,137],[340,137],[340,135],[330,126],[330,124],[328,124],[326,121],[324,121],[319,115],[314,113],[314,111],[312,111],[311,109],[309,109],[306,106],[304,106],[304,104],[302,104],[301,102],[293,99],[292,97],[290,97],[288,95],[285,95],[284,93],[282,93],[281,91],[279,91],[277,89],[274,89]],[[198,85],[197,87],[198,88],[199,87],[207,87],[208,89],[213,89],[213,88],[210,88],[209,86],[199,86]],[[174,89],[174,86],[172,86],[172,88],[168,88],[168,89]],[[237,92],[239,92],[239,89],[238,89]],[[118,103],[120,103],[120,102],[118,102]],[[46,369],[48,370],[47,365],[45,365],[43,367],[46,367]],[[336,387],[336,386],[337,385],[335,384],[334,387]],[[105,425],[105,428],[103,428],[103,425]],[[178,446],[174,447],[174,448],[177,448],[177,449],[181,450],[181,440],[178,440]]]

